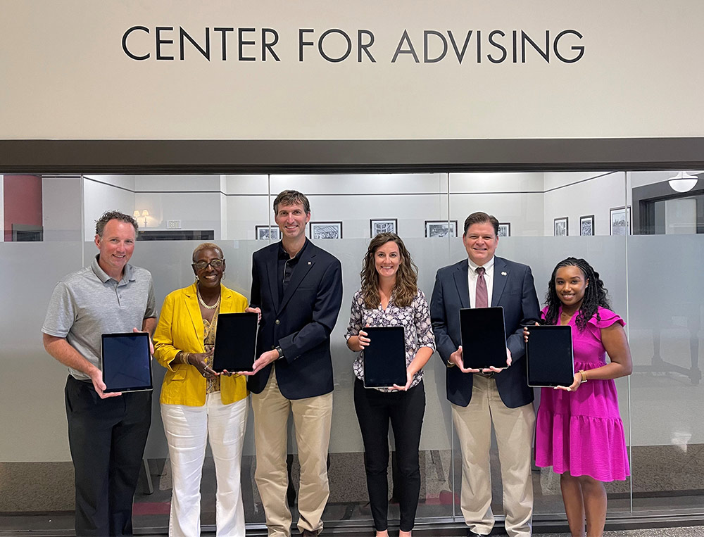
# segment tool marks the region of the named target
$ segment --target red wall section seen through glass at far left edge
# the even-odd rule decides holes
[[[42,225],[42,177],[6,175],[3,181],[4,234],[12,241],[12,225]]]

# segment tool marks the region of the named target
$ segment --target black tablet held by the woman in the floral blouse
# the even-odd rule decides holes
[[[406,386],[406,336],[403,327],[366,327],[364,387]]]

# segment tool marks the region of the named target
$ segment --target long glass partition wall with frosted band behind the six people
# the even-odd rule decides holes
[[[704,410],[699,366],[704,289],[698,276],[704,263],[704,180],[695,175],[689,190],[678,191],[675,187],[682,185],[669,182],[675,174],[0,175],[5,224],[0,274],[7,282],[4,303],[14,305],[0,316],[0,420],[6,431],[0,436],[0,530],[23,529],[24,516],[43,513],[53,514],[46,517],[52,521],[47,528],[73,524],[73,468],[63,408],[66,372],[44,352],[40,330],[58,279],[95,255],[96,218],[109,209],[139,215],[142,240],[132,263],[153,274],[159,305],[167,293],[193,281],[191,252],[204,240],[222,246],[224,283],[249,298],[251,256],[278,239],[272,201],[283,189],[308,195],[308,236],[343,267],[343,305],[332,333],[328,528],[344,533],[371,525],[352,398],[354,354],[343,336],[370,236],[392,230],[403,238],[429,298],[436,270],[466,257],[460,236],[465,217],[475,210],[501,222],[497,255],[532,267],[541,303],[554,265],[570,255],[583,257],[600,272],[614,309],[627,322],[634,373],[619,379],[617,389],[632,477],[608,485],[610,517],[704,517],[704,426],[698,419]],[[419,526],[462,522],[460,450],[444,369],[437,356],[425,369]],[[153,423],[134,514],[138,528],[158,533],[168,526],[171,490],[156,403],[163,369],[155,362],[154,371]],[[292,504],[296,451],[289,431]],[[242,486],[252,529],[264,522],[253,484],[255,467],[250,415]],[[501,514],[495,446],[492,475],[494,512]],[[536,526],[564,520],[559,476],[536,468],[533,480]],[[202,522],[214,530],[215,474],[209,454],[202,493]],[[393,498],[390,518],[398,519]]]

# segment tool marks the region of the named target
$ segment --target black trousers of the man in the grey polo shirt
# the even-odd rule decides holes
[[[101,399],[93,384],[69,375],[65,398],[76,535],[132,535],[132,501],[151,425],[151,391]]]

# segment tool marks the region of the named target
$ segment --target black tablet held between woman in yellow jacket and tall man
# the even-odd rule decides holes
[[[253,312],[220,313],[215,333],[213,369],[231,373],[251,371],[257,351],[258,315]]]

